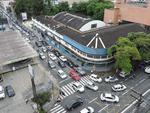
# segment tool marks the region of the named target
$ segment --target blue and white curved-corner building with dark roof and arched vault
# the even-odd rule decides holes
[[[107,26],[104,22],[61,12],[54,16],[38,16],[32,19],[33,27],[42,32],[47,42],[85,64],[105,65],[112,62],[107,48],[120,36],[129,32],[144,32],[137,24]]]

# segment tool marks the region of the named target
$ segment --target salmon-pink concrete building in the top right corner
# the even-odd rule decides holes
[[[150,0],[116,0],[114,9],[106,9],[104,22],[122,21],[150,26]]]

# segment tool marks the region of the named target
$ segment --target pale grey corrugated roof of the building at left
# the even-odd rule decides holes
[[[37,56],[36,51],[18,32],[0,32],[0,40],[1,66]]]

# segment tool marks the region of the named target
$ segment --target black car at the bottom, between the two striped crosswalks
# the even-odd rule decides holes
[[[83,102],[84,101],[82,98],[77,98],[77,99],[71,100],[70,102],[67,103],[66,109],[68,111],[71,111],[71,110],[81,106],[83,104]]]

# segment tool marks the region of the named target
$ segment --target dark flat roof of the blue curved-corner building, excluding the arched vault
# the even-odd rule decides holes
[[[68,14],[68,13],[67,13]],[[59,15],[60,16],[60,15]],[[94,29],[88,32],[80,32],[76,29],[72,29],[71,27],[78,27],[80,24],[79,21],[75,21],[73,19],[67,23],[67,20],[62,19],[62,17],[54,16],[38,16],[36,17],[37,21],[45,24],[46,26],[54,29],[61,35],[67,36],[74,40],[77,43],[80,43],[84,46],[88,46],[90,48],[108,48],[113,45],[118,37],[127,36],[129,32],[145,32],[145,29],[138,24],[130,23],[116,26],[106,26],[99,29]],[[70,16],[66,16],[69,20]],[[78,19],[77,19],[78,20]],[[88,20],[85,20],[85,23]],[[73,23],[72,23],[73,22]],[[78,23],[79,25],[75,24]],[[69,26],[68,26],[69,24]],[[75,26],[77,25],[77,26]],[[71,26],[71,27],[70,27]],[[94,38],[95,37],[95,38]]]

